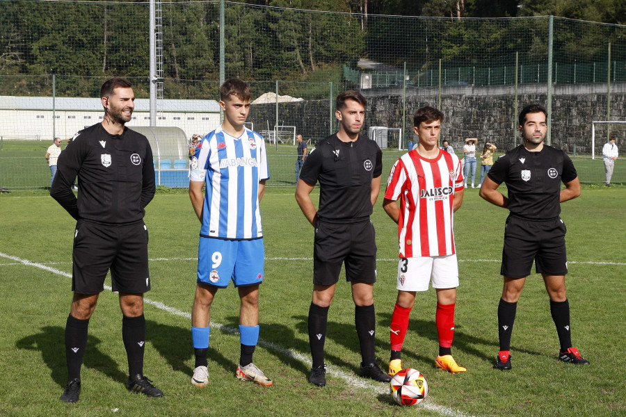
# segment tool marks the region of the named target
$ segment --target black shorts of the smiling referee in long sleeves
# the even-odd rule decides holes
[[[147,243],[143,222],[104,226],[79,220],[74,233],[72,291],[85,295],[102,292],[109,270],[113,291],[128,294],[150,291]]]

